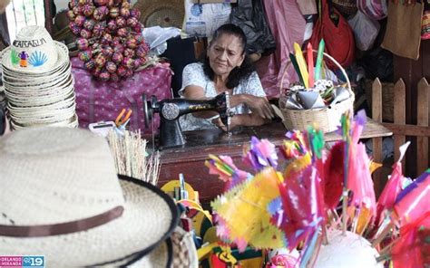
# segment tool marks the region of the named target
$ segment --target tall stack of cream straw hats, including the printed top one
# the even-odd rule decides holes
[[[77,128],[67,47],[44,27],[26,26],[1,54],[7,110],[14,129]]]

